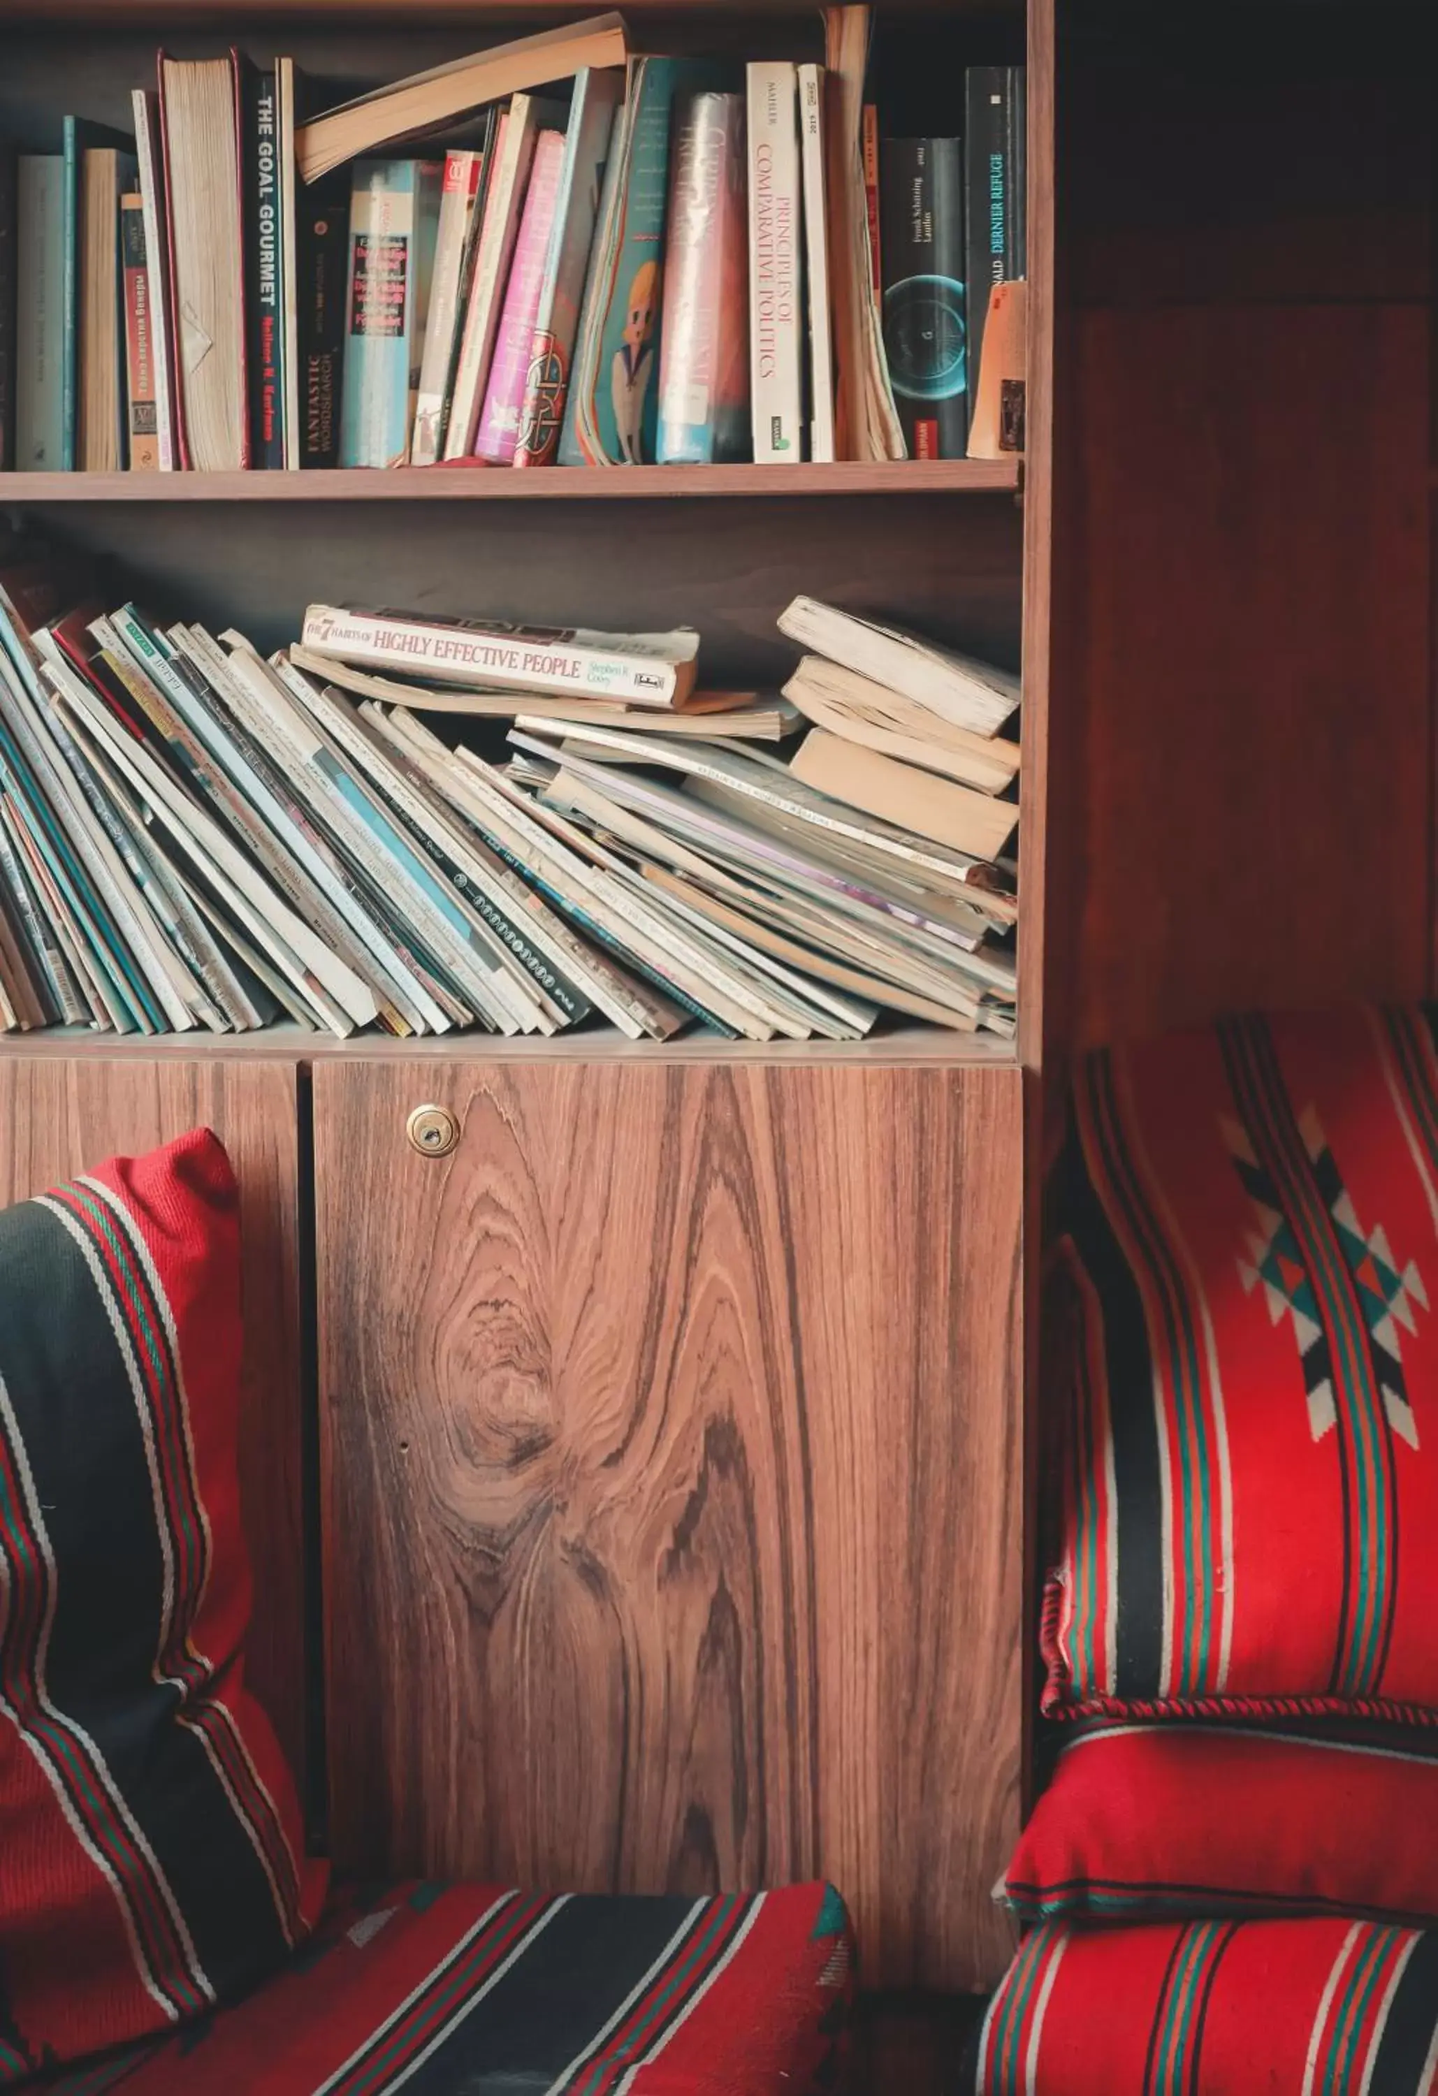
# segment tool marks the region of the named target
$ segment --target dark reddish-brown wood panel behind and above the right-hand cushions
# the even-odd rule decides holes
[[[1077,316],[1071,1038],[1423,989],[1428,354],[1409,306]]]

